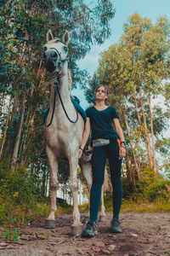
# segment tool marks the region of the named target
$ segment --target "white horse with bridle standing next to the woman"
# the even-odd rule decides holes
[[[54,228],[56,207],[57,172],[59,158],[67,158],[70,166],[70,189],[73,195],[73,235],[82,233],[82,223],[77,202],[77,166],[79,146],[82,143],[84,120],[77,113],[71,102],[69,90],[70,73],[68,72],[68,48],[70,41],[69,32],[65,32],[63,40],[54,38],[51,31],[47,33],[47,44],[44,45],[43,61],[46,69],[54,73],[54,84],[51,84],[50,109],[44,126],[46,152],[50,166],[51,207],[46,220],[45,228]],[[82,175],[88,183],[88,189],[92,184],[90,174],[90,159],[80,160],[79,165]]]

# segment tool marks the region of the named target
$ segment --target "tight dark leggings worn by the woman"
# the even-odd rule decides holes
[[[119,144],[116,139],[111,139],[110,144],[94,148],[92,155],[93,184],[90,190],[90,219],[97,222],[99,203],[101,199],[101,188],[105,177],[105,162],[108,158],[111,172],[111,183],[113,187],[113,217],[119,217],[122,205],[122,182],[121,166],[119,160]]]

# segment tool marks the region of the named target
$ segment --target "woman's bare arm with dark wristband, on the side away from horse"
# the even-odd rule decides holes
[[[122,127],[120,125],[119,119],[113,119],[115,129],[116,129],[116,134],[118,137],[120,137],[121,142],[125,141],[125,137],[122,132]],[[122,144],[119,150],[119,159],[122,159],[126,155],[126,146],[125,144]]]

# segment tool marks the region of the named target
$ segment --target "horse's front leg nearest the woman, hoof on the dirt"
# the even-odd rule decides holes
[[[77,182],[78,154],[77,153],[75,154],[74,152],[69,157],[70,174],[71,174],[70,189],[73,196],[73,213],[72,213],[73,224],[71,226],[73,236],[80,236],[82,234],[82,229],[83,229],[82,223],[80,221],[80,212],[78,210],[78,201],[77,201],[77,190],[78,190],[78,182]]]

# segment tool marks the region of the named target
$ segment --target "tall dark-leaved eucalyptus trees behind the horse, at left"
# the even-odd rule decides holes
[[[0,106],[8,104],[8,113],[1,118],[0,157],[8,166],[31,165],[31,170],[35,166],[37,170],[40,165],[42,113],[48,106],[49,90],[41,59],[48,29],[58,38],[65,30],[70,32],[73,86],[83,86],[88,75],[79,70],[77,60],[110,36],[114,14],[110,0],[99,0],[95,6],[82,0],[1,1]]]

